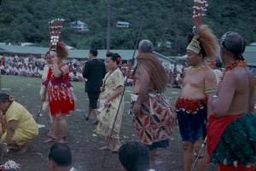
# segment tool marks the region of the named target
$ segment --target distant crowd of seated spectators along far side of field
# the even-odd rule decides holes
[[[70,67],[69,79],[73,82],[84,82],[83,67],[86,60],[68,59],[66,63]],[[0,71],[2,75],[15,75],[23,77],[42,77],[44,70],[44,57],[38,58],[33,55],[18,56],[18,55],[3,55],[0,63]],[[166,71],[169,73],[169,86],[179,88],[183,74],[183,65],[173,63],[163,64]],[[134,83],[134,76],[132,74],[131,65],[128,62],[123,63],[121,71],[124,77],[127,78],[127,85],[132,86]]]

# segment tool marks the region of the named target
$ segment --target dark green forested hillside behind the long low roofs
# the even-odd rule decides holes
[[[65,19],[61,39],[75,48],[106,48],[108,0],[2,0],[0,42],[38,43],[48,46],[48,21]],[[139,27],[142,38],[172,42],[161,46],[161,53],[183,54],[187,34],[192,28],[192,0],[111,0],[111,48],[133,48]],[[247,43],[256,42],[255,0],[211,0],[205,24],[219,37],[225,31],[239,31]],[[144,20],[143,20],[144,18]],[[90,31],[78,32],[70,22],[81,20]],[[129,28],[117,28],[116,21],[130,22]]]

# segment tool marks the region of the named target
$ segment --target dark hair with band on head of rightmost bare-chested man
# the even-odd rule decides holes
[[[246,42],[243,37],[237,32],[228,31],[226,32],[220,40],[221,45],[234,54],[235,60],[244,60],[242,54],[246,48]]]

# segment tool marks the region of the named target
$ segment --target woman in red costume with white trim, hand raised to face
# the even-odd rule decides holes
[[[70,111],[75,109],[75,99],[71,83],[68,81],[69,68],[63,62],[67,58],[68,50],[65,43],[59,42],[55,51],[50,51],[54,55],[53,65],[49,66],[47,80],[43,83],[47,89],[47,94],[43,94],[42,99],[48,96],[49,111],[53,117],[52,132],[45,142],[67,140],[67,123],[65,117]],[[61,134],[57,134],[60,132]]]

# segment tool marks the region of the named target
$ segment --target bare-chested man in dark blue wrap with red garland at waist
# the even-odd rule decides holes
[[[206,41],[207,40],[207,41]],[[212,69],[205,58],[215,58],[217,38],[207,26],[200,26],[187,47],[188,64],[184,72],[183,88],[176,102],[177,120],[183,140],[183,166],[191,171],[194,155],[197,157],[206,136],[207,113],[211,113],[212,94],[217,88]],[[197,170],[207,168],[206,150],[199,156]]]

